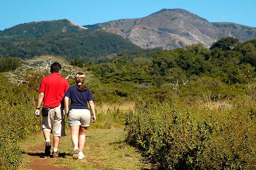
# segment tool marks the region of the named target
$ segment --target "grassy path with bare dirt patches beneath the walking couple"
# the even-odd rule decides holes
[[[87,130],[85,159],[72,159],[72,142],[69,129],[67,136],[61,137],[59,158],[44,157],[44,138],[42,132],[31,135],[19,143],[23,151],[23,163],[20,170],[138,170],[142,165],[140,153],[125,144],[122,129]],[[52,139],[51,139],[52,140]],[[124,149],[118,146],[123,145]],[[52,150],[52,149],[51,149]]]

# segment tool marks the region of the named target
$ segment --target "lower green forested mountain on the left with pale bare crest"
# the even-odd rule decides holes
[[[139,48],[104,28],[88,29],[67,19],[19,24],[0,32],[0,57],[59,55],[88,61]]]

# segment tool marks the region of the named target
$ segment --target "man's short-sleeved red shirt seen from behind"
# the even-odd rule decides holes
[[[54,108],[63,104],[63,96],[68,88],[68,80],[59,73],[51,73],[50,76],[44,77],[38,90],[44,93],[44,107]]]

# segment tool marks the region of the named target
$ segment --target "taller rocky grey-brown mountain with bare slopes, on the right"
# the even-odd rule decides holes
[[[218,39],[228,36],[242,41],[256,38],[256,28],[226,22],[211,23],[184,9],[162,9],[143,18],[85,27],[104,27],[141,48],[161,47],[166,50],[197,43],[210,47]]]

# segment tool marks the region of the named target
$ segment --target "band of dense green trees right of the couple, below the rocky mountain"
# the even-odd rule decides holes
[[[210,49],[196,44],[170,51],[122,51],[85,66],[103,83],[132,81],[159,87],[205,76],[227,84],[247,83],[246,78],[256,76],[256,40],[239,43],[235,38],[223,38]]]

